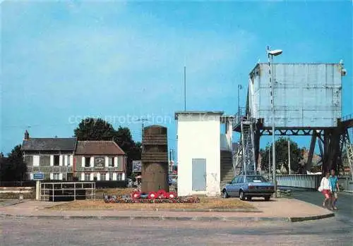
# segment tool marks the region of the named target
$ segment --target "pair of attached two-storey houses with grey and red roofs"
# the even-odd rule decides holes
[[[44,180],[125,180],[126,154],[114,141],[32,138],[25,132],[23,159],[28,180],[44,173]]]

